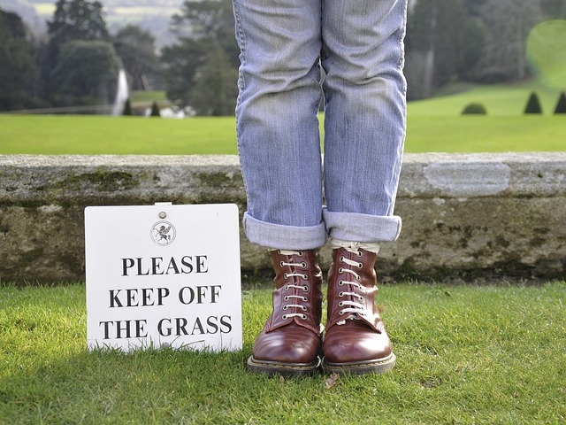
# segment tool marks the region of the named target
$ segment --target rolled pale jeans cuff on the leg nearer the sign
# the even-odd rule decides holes
[[[249,242],[279,250],[315,250],[326,243],[325,223],[295,227],[268,223],[244,213],[244,231]]]

